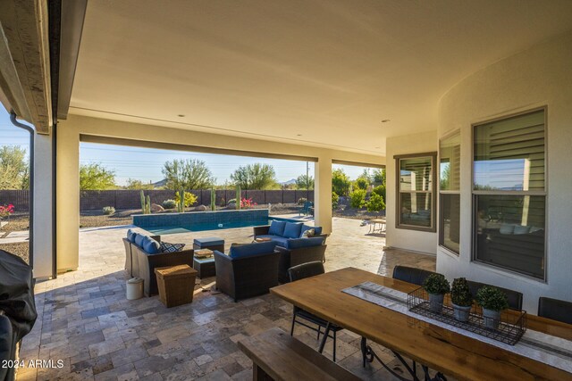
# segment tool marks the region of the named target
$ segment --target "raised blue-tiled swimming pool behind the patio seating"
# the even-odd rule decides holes
[[[267,225],[272,219],[297,221],[297,219],[269,217],[267,209],[247,209],[138,214],[133,216],[133,225],[156,235],[165,235],[189,231],[256,227]]]

